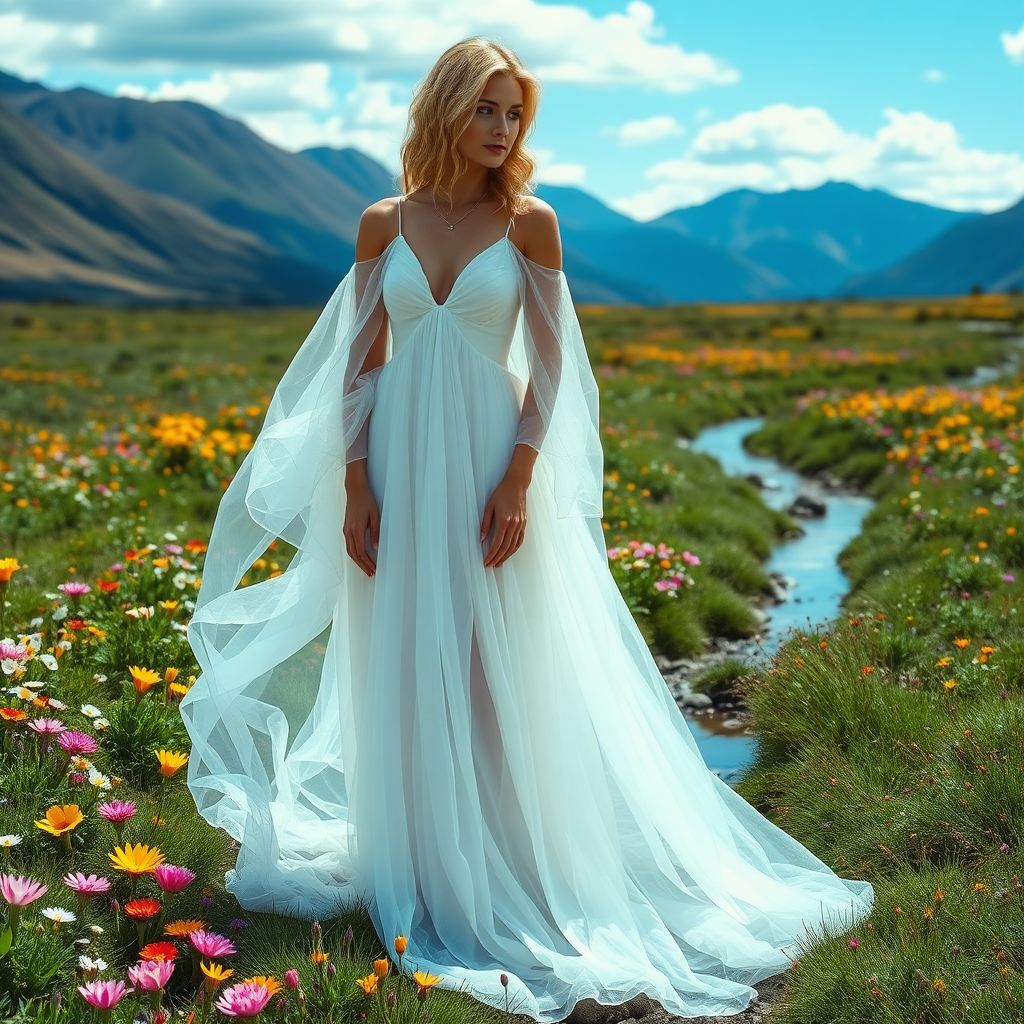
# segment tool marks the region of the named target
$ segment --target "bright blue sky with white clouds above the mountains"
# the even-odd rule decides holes
[[[416,83],[474,35],[541,80],[539,179],[638,220],[825,181],[1024,196],[1024,0],[0,0],[9,74],[198,100],[391,171]]]

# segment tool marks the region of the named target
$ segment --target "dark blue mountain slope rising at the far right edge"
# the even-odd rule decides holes
[[[907,259],[850,279],[843,291],[863,296],[964,295],[975,285],[989,292],[1024,287],[1024,200],[954,224]]]

